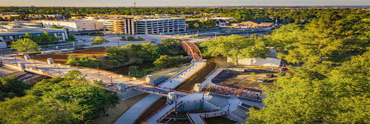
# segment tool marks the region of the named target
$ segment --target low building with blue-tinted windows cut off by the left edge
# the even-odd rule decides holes
[[[7,48],[7,46],[11,44],[11,41],[21,38],[21,36],[25,35],[26,33],[41,35],[44,34],[44,31],[46,31],[49,34],[54,34],[54,36],[57,37],[59,41],[64,41],[65,39],[68,39],[67,30],[48,29],[32,26],[40,25],[31,23],[0,24],[0,48]]]

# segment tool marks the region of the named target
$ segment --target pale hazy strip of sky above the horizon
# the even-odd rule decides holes
[[[370,5],[370,0],[0,0],[0,6],[322,6]]]

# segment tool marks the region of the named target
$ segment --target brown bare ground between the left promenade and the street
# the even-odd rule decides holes
[[[91,48],[87,50],[80,50],[80,51],[74,51],[72,53],[62,53],[62,54],[49,54],[49,55],[42,55],[39,57],[34,57],[36,60],[43,60],[46,61],[47,58],[53,58],[55,63],[61,63],[64,64],[68,60],[68,56],[73,55],[76,57],[80,56],[96,56],[96,57],[101,57],[101,56],[107,56],[105,53],[105,48]]]

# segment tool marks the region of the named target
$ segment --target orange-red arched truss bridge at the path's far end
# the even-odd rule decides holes
[[[194,43],[190,41],[182,41],[181,47],[193,60],[203,60],[201,51]]]

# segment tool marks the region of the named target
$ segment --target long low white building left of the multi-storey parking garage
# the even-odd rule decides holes
[[[43,20],[43,26],[50,28],[53,25],[63,27],[69,31],[91,31],[103,30],[103,22],[96,20],[67,20],[67,21],[48,21]]]

